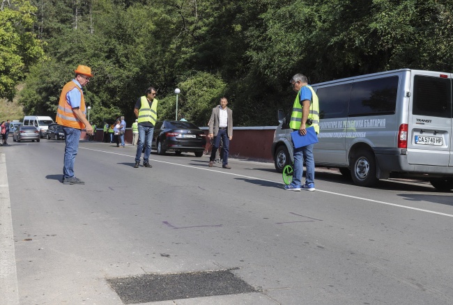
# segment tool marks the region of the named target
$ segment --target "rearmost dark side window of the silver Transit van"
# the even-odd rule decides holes
[[[349,116],[394,114],[397,93],[397,76],[354,82],[349,102]]]

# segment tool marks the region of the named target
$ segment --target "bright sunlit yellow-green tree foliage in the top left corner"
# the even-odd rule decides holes
[[[37,8],[29,1],[3,1],[0,10],[0,98],[13,101],[15,86],[29,65],[44,56],[43,44],[32,32]]]

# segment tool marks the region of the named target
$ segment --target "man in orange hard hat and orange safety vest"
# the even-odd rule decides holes
[[[64,185],[85,184],[75,177],[74,162],[79,150],[82,130],[85,129],[89,136],[93,134],[93,127],[86,120],[84,92],[82,91],[82,87],[86,86],[93,77],[91,68],[79,65],[74,72],[75,78],[63,86],[59,108],[56,111],[56,123],[63,126],[66,141],[62,181]]]

